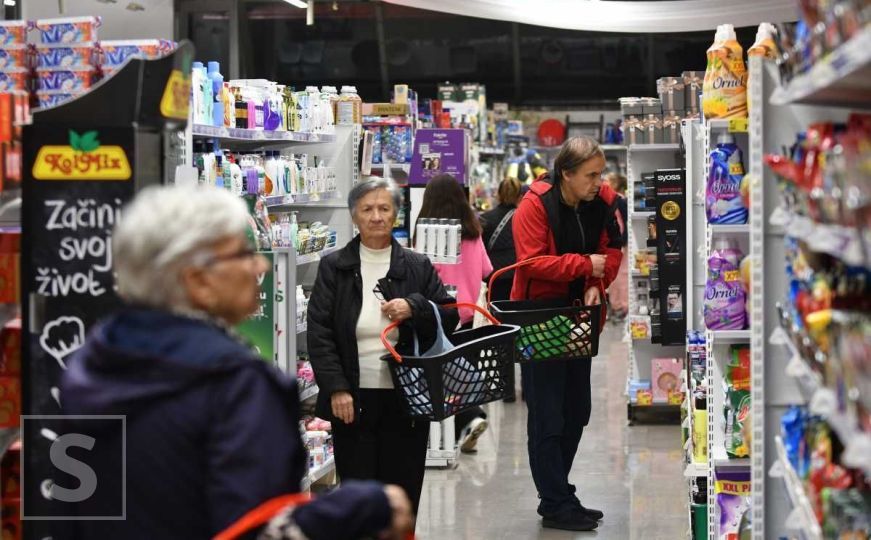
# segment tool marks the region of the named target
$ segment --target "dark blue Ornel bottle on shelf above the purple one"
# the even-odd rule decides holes
[[[730,133],[717,138],[717,147],[711,152],[711,169],[705,187],[705,213],[708,223],[747,223],[747,207],[741,197],[744,163],[741,149]]]

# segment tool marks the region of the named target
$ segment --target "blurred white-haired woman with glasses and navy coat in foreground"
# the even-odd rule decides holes
[[[211,538],[300,491],[296,381],[232,330],[256,311],[258,275],[269,271],[248,219],[241,199],[214,188],[147,188],[124,211],[113,249],[126,307],[69,360],[61,403],[68,415],[125,415],[126,432],[93,431],[89,463],[113,467],[116,447],[100,442],[126,435],[126,519],[64,521],[56,538]],[[91,433],[91,423],[71,422]],[[391,514],[392,536],[411,528],[401,490],[368,482],[280,518],[310,539],[350,539],[389,532]]]

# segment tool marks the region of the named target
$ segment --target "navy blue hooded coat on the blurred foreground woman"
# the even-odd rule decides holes
[[[66,414],[127,416],[127,519],[65,522],[56,538],[211,538],[298,492],[306,473],[296,381],[206,321],[144,309],[109,318],[68,363],[61,402]],[[377,511],[356,525],[378,530],[389,505],[380,486],[366,489]],[[329,529],[349,518],[341,497],[324,504]],[[310,506],[307,536],[337,538],[318,531]]]

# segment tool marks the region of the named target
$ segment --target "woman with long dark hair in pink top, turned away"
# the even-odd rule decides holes
[[[469,204],[463,187],[449,174],[440,174],[426,185],[418,219],[457,219],[460,221],[462,241],[458,264],[435,264],[446,285],[457,288],[457,301],[476,304],[481,293],[482,280],[493,272],[490,258],[481,240],[481,223],[475,209]],[[462,328],[472,328],[474,311],[460,308]],[[465,453],[475,451],[478,438],[487,430],[487,414],[481,407],[473,407],[454,417],[454,435]]]

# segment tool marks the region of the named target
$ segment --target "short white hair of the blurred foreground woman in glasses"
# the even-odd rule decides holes
[[[187,309],[181,271],[216,242],[244,235],[241,198],[214,187],[154,186],[122,211],[112,240],[118,295],[162,309]]]

